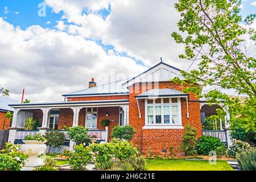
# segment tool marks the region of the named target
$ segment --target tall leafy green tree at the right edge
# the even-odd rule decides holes
[[[240,7],[237,0],[179,0],[175,9],[181,15],[177,26],[183,34],[172,32],[172,37],[185,47],[180,58],[192,60],[192,64],[199,61],[198,69],[182,72],[187,81],[203,81],[204,86],[214,88],[207,94],[195,87],[187,90],[197,90],[199,97],[207,97],[212,103],[224,99],[224,107],[228,106],[233,115],[230,124],[243,122],[246,132],[255,133],[256,59],[249,50],[256,45],[256,31],[251,28],[256,15],[248,15],[243,24]],[[245,104],[221,93],[221,89],[246,94]]]

